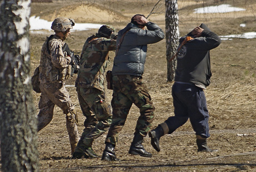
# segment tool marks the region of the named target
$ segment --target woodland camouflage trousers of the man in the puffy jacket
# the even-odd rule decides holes
[[[133,75],[114,75],[113,98],[111,101],[113,109],[112,123],[107,133],[106,143],[116,145],[117,137],[125,125],[125,121],[131,105],[134,103],[140,110],[137,119],[135,133],[146,136],[154,119],[154,105],[146,85],[142,83],[142,77]]]

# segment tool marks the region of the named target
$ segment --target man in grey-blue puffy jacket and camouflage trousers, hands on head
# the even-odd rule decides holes
[[[145,26],[147,30],[145,30]],[[132,17],[131,23],[118,33],[116,57],[112,69],[113,98],[111,105],[113,116],[102,160],[118,160],[114,148],[133,103],[140,109],[140,117],[137,120],[129,154],[152,156],[144,149],[142,141],[150,130],[155,108],[146,85],[142,82],[142,74],[147,44],[156,43],[162,39],[164,39],[162,29],[155,23],[149,22],[141,14]]]

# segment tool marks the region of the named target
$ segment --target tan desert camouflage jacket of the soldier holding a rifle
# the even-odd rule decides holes
[[[62,52],[64,44],[60,37],[56,35],[47,38],[43,44],[39,65],[41,83],[63,82],[65,79],[71,58]]]

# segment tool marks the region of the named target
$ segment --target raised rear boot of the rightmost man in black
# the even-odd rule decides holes
[[[151,138],[151,145],[156,151],[160,151],[159,140],[164,135],[164,130],[161,125],[158,125],[154,130],[149,131],[149,137]]]

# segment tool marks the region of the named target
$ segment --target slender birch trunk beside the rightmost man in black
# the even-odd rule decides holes
[[[167,81],[173,81],[175,77],[176,58],[171,61],[170,59],[176,53],[179,44],[178,0],[165,0],[165,32]]]

